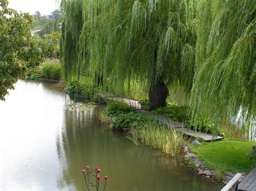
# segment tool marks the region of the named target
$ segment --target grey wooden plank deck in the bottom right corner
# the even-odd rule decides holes
[[[256,167],[239,183],[238,189],[256,191]]]

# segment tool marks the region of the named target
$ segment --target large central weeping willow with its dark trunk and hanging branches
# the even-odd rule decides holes
[[[151,110],[165,106],[167,86],[192,88],[194,2],[62,0],[65,79],[86,73],[119,90],[137,80],[149,86]]]

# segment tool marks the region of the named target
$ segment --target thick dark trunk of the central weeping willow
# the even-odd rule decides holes
[[[169,90],[163,80],[159,79],[156,83],[152,83],[149,91],[149,110],[166,107],[168,95]]]

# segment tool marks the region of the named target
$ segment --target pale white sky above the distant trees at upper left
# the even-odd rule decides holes
[[[50,15],[50,13],[58,9],[56,0],[8,0],[9,8],[17,11],[29,12],[34,14],[39,11],[41,15]]]

